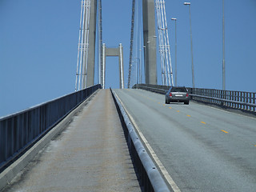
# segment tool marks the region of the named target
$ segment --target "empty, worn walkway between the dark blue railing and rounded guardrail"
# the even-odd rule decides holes
[[[7,191],[140,191],[110,90],[99,90]]]

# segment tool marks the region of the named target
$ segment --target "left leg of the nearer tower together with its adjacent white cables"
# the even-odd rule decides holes
[[[94,85],[97,0],[81,0],[75,90]]]

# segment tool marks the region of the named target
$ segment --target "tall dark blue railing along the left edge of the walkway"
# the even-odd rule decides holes
[[[17,114],[0,118],[0,173],[6,165],[33,146],[101,85],[90,86]]]

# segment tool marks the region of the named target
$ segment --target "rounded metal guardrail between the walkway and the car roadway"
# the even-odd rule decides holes
[[[127,145],[133,158],[134,166],[140,174],[144,191],[170,192],[168,186],[166,186],[166,182],[163,180],[157,167],[150,158],[150,155],[147,154],[146,149],[138,138],[138,134],[135,132],[134,126],[130,122],[122,104],[114,94],[114,91],[111,90],[111,93],[113,95],[115,105],[117,106],[122,126],[124,127]]]

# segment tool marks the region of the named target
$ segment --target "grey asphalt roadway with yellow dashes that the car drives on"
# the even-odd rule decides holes
[[[256,118],[114,90],[181,191],[256,191]]]

